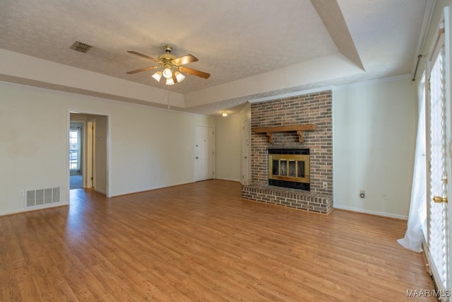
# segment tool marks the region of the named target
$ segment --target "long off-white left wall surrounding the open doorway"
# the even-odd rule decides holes
[[[68,202],[69,111],[108,116],[113,196],[194,181],[195,124],[215,125],[213,117],[9,83],[0,95],[0,215],[24,210],[18,190],[61,187]]]

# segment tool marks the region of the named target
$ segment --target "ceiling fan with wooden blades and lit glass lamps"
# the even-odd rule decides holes
[[[208,77],[210,76],[210,74],[208,74],[206,72],[184,66],[185,64],[189,64],[191,62],[198,61],[198,59],[196,57],[194,57],[194,55],[186,54],[185,56],[177,58],[171,54],[172,46],[165,45],[163,48],[165,49],[166,53],[160,54],[160,56],[158,56],[158,59],[149,57],[149,56],[147,56],[145,54],[141,54],[139,52],[133,52],[131,50],[128,50],[127,52],[130,52],[131,54],[136,54],[139,57],[149,59],[153,62],[158,63],[159,65],[136,69],[136,70],[127,72],[127,74],[136,74],[137,72],[141,72],[141,71],[158,69],[155,72],[155,74],[153,74],[153,78],[157,82],[160,82],[160,79],[163,76],[166,79],[167,85],[174,85],[174,83],[180,83],[180,82],[184,81],[185,76],[183,74],[181,74],[181,72],[184,72],[186,74],[191,74],[193,76],[199,76],[203,79],[208,79]]]

